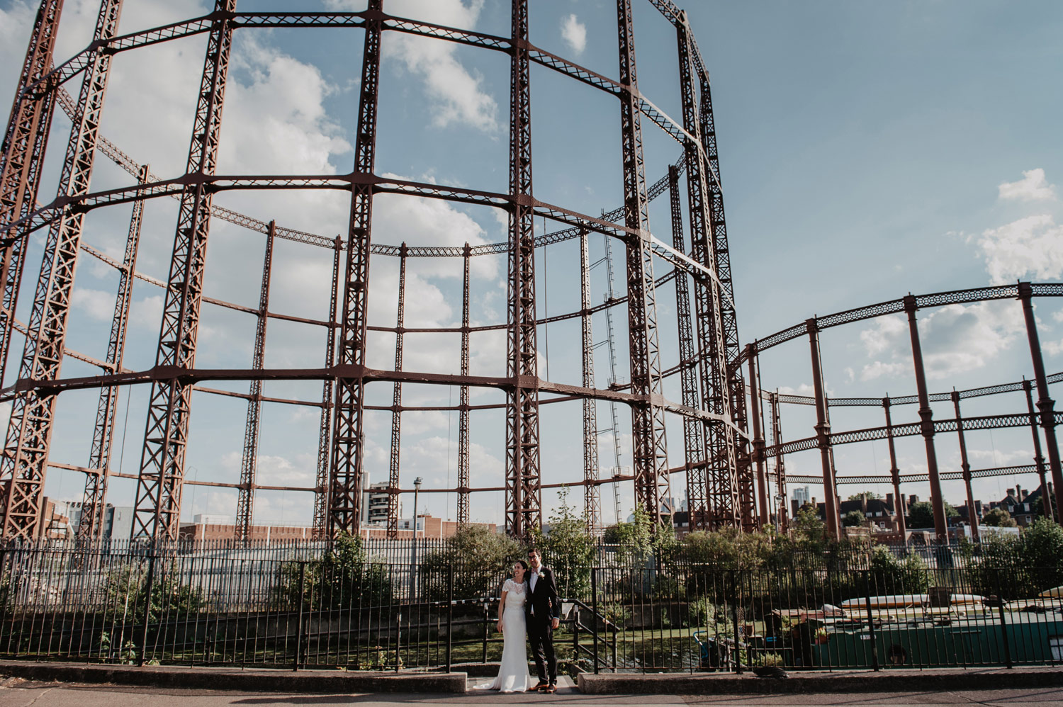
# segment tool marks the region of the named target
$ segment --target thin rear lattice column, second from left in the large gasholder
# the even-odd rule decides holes
[[[263,284],[258,292],[258,321],[255,324],[255,351],[251,368],[261,370],[266,363],[266,324],[269,321],[269,283],[273,274],[273,239],[276,237],[276,221],[269,222],[266,234],[266,255],[263,259]],[[234,539],[247,542],[251,539],[251,526],[255,512],[255,475],[258,471],[258,426],[263,406],[263,382],[251,382],[251,397],[248,399],[248,419],[243,426],[243,456],[240,460],[240,487],[236,498],[236,525]]]

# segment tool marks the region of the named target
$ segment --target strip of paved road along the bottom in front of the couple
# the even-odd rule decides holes
[[[492,705],[553,704],[592,707],[595,705],[720,705],[721,707],[885,707],[888,705],[986,705],[1011,707],[1063,707],[1063,688],[1005,689],[958,692],[898,692],[868,694],[783,694],[783,695],[585,695],[566,686],[555,695],[470,692],[440,694],[280,694],[232,691],[174,690],[124,686],[31,683],[10,678],[0,684],[0,707],[304,707],[308,705]]]

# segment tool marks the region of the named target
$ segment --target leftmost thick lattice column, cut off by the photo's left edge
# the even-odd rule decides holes
[[[0,385],[7,371],[7,353],[15,324],[15,305],[26,264],[24,228],[12,230],[13,223],[33,211],[40,186],[40,170],[48,147],[48,133],[55,108],[55,90],[49,86],[27,89],[52,68],[55,33],[58,30],[63,0],[43,0],[26,49],[11,118],[0,152]]]

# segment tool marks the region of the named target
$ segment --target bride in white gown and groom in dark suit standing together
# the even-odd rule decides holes
[[[517,560],[512,579],[506,579],[502,586],[502,601],[499,603],[499,630],[503,635],[502,664],[494,681],[479,687],[502,692],[556,692],[554,629],[560,624],[560,617],[561,602],[557,596],[554,573],[542,563],[542,553],[532,549],[528,561]],[[539,672],[539,683],[534,687],[528,675],[525,634],[532,643],[532,655]]]

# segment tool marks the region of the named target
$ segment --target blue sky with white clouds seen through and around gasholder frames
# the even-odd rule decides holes
[[[24,55],[35,6],[0,0],[0,96],[12,97]],[[239,10],[277,10],[280,1],[241,0]],[[989,2],[679,2],[712,77],[712,100],[727,231],[743,343],[763,338],[814,315],[893,300],[909,292],[929,293],[1016,280],[1059,281],[1063,274],[1063,209],[1057,183],[1063,174],[1058,139],[1063,97],[1054,86],[1063,73],[1063,6],[1033,0]],[[321,0],[300,9],[361,10],[365,0]],[[507,35],[508,3],[499,0],[386,0],[387,12],[439,24]],[[122,33],[205,14],[203,2],[141,0],[126,3]],[[65,58],[90,39],[97,3],[67,0],[56,57]],[[615,78],[615,5],[605,0],[533,0],[533,44]],[[661,110],[681,116],[671,26],[644,0],[635,0],[636,53],[640,89]],[[360,30],[239,29],[235,35],[225,96],[218,173],[343,173],[353,164],[362,32]],[[102,133],[161,178],[184,171],[195,98],[205,49],[203,35],[119,54],[115,57]],[[458,47],[422,37],[385,33],[376,171],[422,182],[506,191],[508,181],[509,66],[504,54]],[[80,80],[67,84],[77,94]],[[611,209],[622,201],[620,112],[614,98],[549,69],[533,66],[533,163],[536,198],[586,214]],[[680,146],[646,119],[642,121],[646,178],[654,182],[680,154]],[[57,114],[46,163],[41,201],[50,201],[69,121]],[[132,178],[98,156],[92,188],[132,184]],[[345,234],[350,196],[340,191],[303,193],[225,192],[218,205],[281,225],[333,237]],[[98,209],[86,219],[85,242],[120,257],[130,207]],[[147,203],[138,270],[165,279],[176,221],[176,201]],[[537,231],[557,223],[536,222]],[[651,229],[670,240],[667,197],[651,208]],[[373,238],[379,242],[450,245],[497,242],[506,219],[496,209],[451,205],[395,196],[374,201]],[[34,236],[27,277],[39,269],[43,234]],[[255,307],[265,239],[260,234],[215,220],[208,241],[205,292]],[[591,257],[604,255],[601,236],[591,239]],[[615,285],[622,287],[622,251],[613,243]],[[537,256],[540,315],[579,307],[578,249],[568,241]],[[668,265],[657,260],[658,272]],[[327,316],[332,253],[279,240],[275,245],[270,309],[324,319]],[[472,263],[474,324],[505,321],[506,263],[483,256]],[[370,323],[393,325],[398,260],[371,263]],[[410,259],[407,273],[407,326],[460,323],[460,258]],[[83,257],[77,271],[69,349],[103,358],[117,286],[115,271]],[[608,290],[603,265],[592,270],[592,297]],[[32,286],[23,287],[18,316],[26,321]],[[125,367],[150,368],[155,360],[163,299],[158,288],[138,281]],[[1063,370],[1063,303],[1040,299],[1039,332],[1049,373]],[[664,367],[677,359],[675,294],[657,294]],[[918,314],[931,392],[1009,383],[1032,375],[1022,312],[1017,302],[952,305]],[[618,343],[615,376],[625,381],[626,312],[613,316]],[[606,341],[604,314],[593,320],[595,340]],[[251,365],[255,330],[250,315],[204,305],[197,365],[246,368]],[[540,376],[578,384],[578,320],[540,327]],[[16,336],[13,350],[20,351]],[[310,368],[323,365],[320,327],[270,320],[266,366]],[[458,335],[405,337],[405,370],[456,372]],[[824,332],[823,366],[832,397],[905,395],[915,390],[906,322],[883,317]],[[16,353],[17,356],[17,353]],[[391,368],[393,335],[373,334],[369,365]],[[13,360],[17,360],[13,357]],[[472,337],[471,372],[502,375],[505,339],[497,333]],[[64,376],[97,371],[68,358]],[[761,372],[765,388],[808,393],[808,348],[793,341],[766,352]],[[610,377],[608,347],[595,348],[597,385]],[[14,382],[14,369],[4,385]],[[246,391],[244,385],[215,387]],[[664,384],[667,397],[680,400],[678,381]],[[318,401],[320,383],[269,382],[264,394]],[[371,404],[391,402],[390,384],[370,387]],[[122,390],[113,468],[139,468],[148,388]],[[475,404],[502,403],[495,390],[472,392]],[[405,386],[407,405],[456,404],[458,390]],[[53,461],[87,462],[96,394],[67,392],[61,398],[52,441]],[[1025,411],[1022,393],[963,402],[963,415]],[[630,465],[630,416],[619,410],[621,466]],[[935,419],[954,416],[950,404],[935,405]],[[186,477],[237,482],[247,403],[196,393]],[[578,403],[543,406],[543,483],[583,476]],[[608,405],[597,406],[598,428],[611,426]],[[915,406],[894,410],[894,422],[916,419]],[[2,420],[0,420],[2,422]],[[318,409],[265,404],[258,482],[313,486]],[[370,481],[387,478],[390,414],[367,415],[367,468]],[[813,411],[786,406],[786,439],[814,434]],[[878,408],[832,408],[833,430],[882,424]],[[422,476],[426,488],[454,486],[457,479],[457,414],[403,416],[401,486]],[[473,486],[501,486],[505,459],[501,410],[471,416]],[[613,466],[612,435],[600,436],[603,467]],[[684,460],[681,424],[668,421],[669,462]],[[967,434],[975,469],[1030,464],[1027,430]],[[937,438],[942,470],[959,469],[956,439]],[[922,440],[898,440],[901,473],[926,469]],[[884,442],[836,449],[839,475],[885,473]],[[790,474],[819,473],[815,451],[787,457]],[[603,469],[603,475],[611,473]],[[1032,489],[1035,476],[976,479],[975,498],[997,500],[1020,484]],[[132,503],[135,482],[112,481],[108,500]],[[83,476],[49,471],[46,493],[81,498]],[[865,490],[841,487],[843,496]],[[885,493],[887,486],[867,487]],[[905,493],[925,498],[926,484],[906,485]],[[626,517],[632,489],[622,485],[614,501],[603,487],[604,519]],[[822,488],[810,493],[822,498]],[[944,493],[963,502],[962,484],[946,482]],[[684,482],[673,478],[673,494]],[[454,494],[422,493],[421,510],[443,518],[455,514]],[[408,515],[411,499],[405,499]],[[575,489],[568,502],[581,506]],[[544,516],[561,500],[543,494]],[[614,506],[614,503],[617,506]],[[614,510],[620,508],[619,514]],[[308,524],[313,500],[301,492],[259,491],[255,521]],[[501,493],[473,496],[472,519],[501,522]],[[232,516],[235,492],[209,487],[185,489],[183,516]]]

